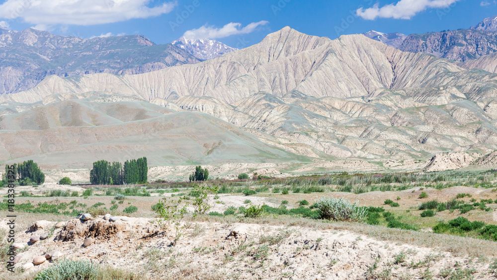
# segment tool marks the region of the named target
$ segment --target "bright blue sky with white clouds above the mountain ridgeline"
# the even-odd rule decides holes
[[[232,47],[290,26],[327,36],[370,29],[404,34],[469,28],[497,15],[494,0],[0,0],[0,25],[60,35],[142,34],[157,44],[187,34]],[[361,9],[362,8],[362,9]]]

